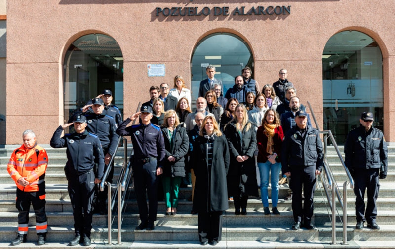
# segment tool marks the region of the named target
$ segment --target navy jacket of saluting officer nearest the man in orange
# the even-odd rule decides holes
[[[95,177],[101,179],[104,174],[104,155],[100,140],[95,134],[86,130],[82,134],[72,133],[60,137],[63,132],[59,126],[51,138],[51,147],[66,147],[66,168],[70,175],[77,176],[92,171],[97,164]]]

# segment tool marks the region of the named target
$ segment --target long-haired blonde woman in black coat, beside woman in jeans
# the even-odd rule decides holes
[[[245,215],[248,196],[258,196],[258,185],[254,157],[256,133],[248,121],[248,112],[243,104],[236,106],[234,119],[225,126],[224,133],[231,154],[227,176],[228,194],[233,196],[235,214]]]

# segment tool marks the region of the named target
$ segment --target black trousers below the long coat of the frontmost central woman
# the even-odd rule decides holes
[[[222,237],[222,211],[221,212],[199,212],[197,214],[197,226],[199,229],[199,240],[221,241]]]

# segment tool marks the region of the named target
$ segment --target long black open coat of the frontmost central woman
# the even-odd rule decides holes
[[[209,171],[207,138],[198,136],[194,143],[191,163],[196,176],[194,209],[197,212],[225,211],[228,206],[226,174],[229,169],[229,148],[225,136],[213,141],[213,161]]]

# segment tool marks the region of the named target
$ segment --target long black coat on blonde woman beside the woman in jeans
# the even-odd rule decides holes
[[[248,122],[249,123],[249,122]],[[248,124],[247,123],[247,124]],[[251,124],[251,123],[250,123]],[[231,164],[228,172],[228,193],[230,196],[243,195],[258,196],[258,185],[256,181],[256,168],[254,152],[256,149],[256,133],[253,124],[242,131],[242,141],[236,129],[236,121],[225,126],[225,136],[228,140],[231,154]],[[237,156],[248,156],[248,160],[237,162]]]

